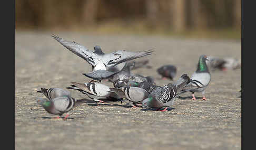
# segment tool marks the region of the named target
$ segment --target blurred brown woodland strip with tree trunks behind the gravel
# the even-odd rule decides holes
[[[16,0],[16,30],[241,39],[241,0]]]

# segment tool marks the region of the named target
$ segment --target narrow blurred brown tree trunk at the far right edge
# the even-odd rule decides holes
[[[242,4],[241,4],[241,0],[234,0],[234,9],[233,9],[233,16],[234,16],[234,26],[236,28],[241,28],[241,8],[242,8]]]

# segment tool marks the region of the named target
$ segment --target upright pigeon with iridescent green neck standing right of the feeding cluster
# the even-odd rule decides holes
[[[206,100],[204,95],[205,89],[208,87],[211,81],[211,74],[208,66],[206,65],[206,60],[209,61],[206,55],[201,55],[199,57],[198,67],[191,76],[191,82],[182,90],[183,92],[191,92],[193,97],[192,100],[196,100],[194,97],[194,92],[202,92],[202,100]]]

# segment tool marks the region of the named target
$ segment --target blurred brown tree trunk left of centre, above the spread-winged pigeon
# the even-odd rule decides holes
[[[94,25],[97,19],[98,0],[86,0],[83,3],[82,24]]]

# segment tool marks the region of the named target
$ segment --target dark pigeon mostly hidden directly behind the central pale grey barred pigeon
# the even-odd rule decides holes
[[[157,88],[161,88],[159,85],[155,85],[149,82],[136,82],[136,81],[129,81],[127,83],[127,85],[131,86],[131,87],[138,87],[138,88],[142,88],[144,90],[146,90],[147,92],[151,93],[153,90],[157,89]]]

